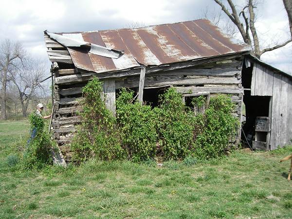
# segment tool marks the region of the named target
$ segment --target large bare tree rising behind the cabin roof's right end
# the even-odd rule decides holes
[[[283,47],[292,41],[292,38],[290,38],[283,43],[262,49],[260,47],[260,42],[255,26],[256,18],[254,8],[256,8],[256,1],[253,2],[253,0],[247,0],[246,5],[239,11],[237,10],[237,6],[234,4],[233,0],[227,0],[228,7],[230,7],[231,11],[225,7],[221,0],[215,0],[215,2],[219,4],[222,11],[237,26],[237,29],[240,32],[244,42],[253,48],[253,53],[256,57],[260,58],[262,54]]]

